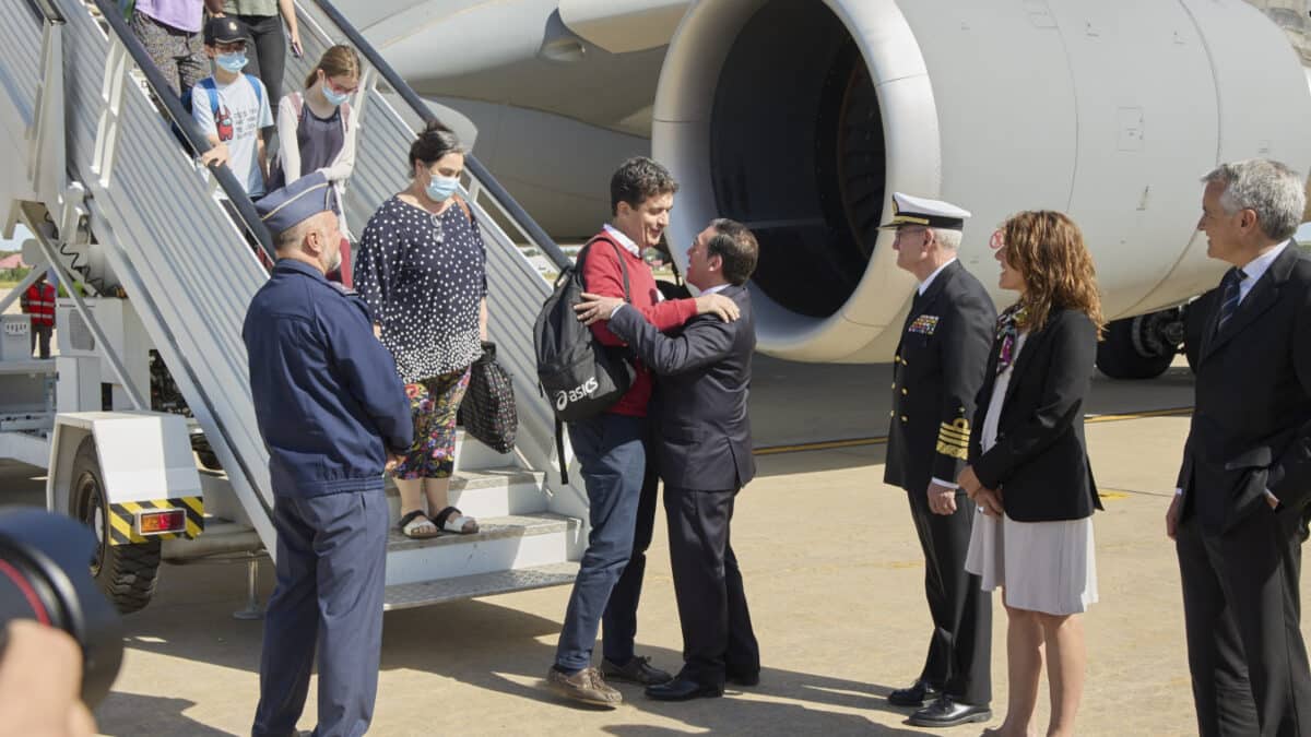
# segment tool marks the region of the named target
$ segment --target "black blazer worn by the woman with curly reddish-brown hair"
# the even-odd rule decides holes
[[[970,434],[974,473],[1002,490],[1002,506],[1017,522],[1092,515],[1101,498],[1083,439],[1083,400],[1097,361],[1097,328],[1083,312],[1053,309],[1047,324],[1029,333],[1011,370],[996,445],[983,452],[998,349],[994,341]]]

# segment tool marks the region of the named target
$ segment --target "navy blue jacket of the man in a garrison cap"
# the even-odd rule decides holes
[[[274,494],[382,489],[387,450],[404,454],[414,425],[364,302],[283,258],[250,300],[241,337]]]

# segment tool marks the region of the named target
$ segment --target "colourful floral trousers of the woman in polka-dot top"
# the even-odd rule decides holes
[[[405,384],[414,416],[414,445],[392,471],[395,479],[448,479],[455,471],[455,414],[469,388],[469,368]]]

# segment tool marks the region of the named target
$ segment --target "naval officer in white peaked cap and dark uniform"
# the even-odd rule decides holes
[[[910,723],[953,727],[991,719],[991,595],[965,572],[974,504],[956,485],[965,467],[974,395],[983,384],[996,309],[956,258],[966,210],[893,195],[897,265],[919,281],[893,366],[884,481],[906,489],[924,549],[924,595],[933,618],[924,669],[888,695],[920,707]],[[926,704],[926,702],[928,702]]]

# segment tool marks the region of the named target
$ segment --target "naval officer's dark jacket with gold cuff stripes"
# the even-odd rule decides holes
[[[960,476],[995,325],[992,299],[960,261],[915,300],[893,359],[884,483],[923,493],[935,476]]]

